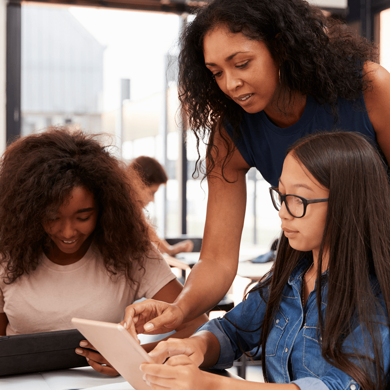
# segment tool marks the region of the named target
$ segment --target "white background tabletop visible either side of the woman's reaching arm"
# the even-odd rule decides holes
[[[179,253],[176,255],[176,259],[183,261],[184,263],[193,266],[199,260],[200,252],[187,252]],[[252,263],[249,259],[253,259],[259,255],[250,253],[249,251],[241,252],[238,259],[237,275],[243,278],[250,278],[252,280],[263,277],[272,267],[273,262],[268,263]]]

